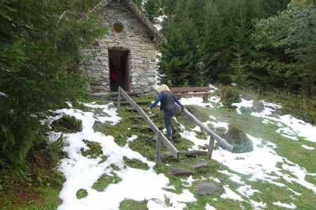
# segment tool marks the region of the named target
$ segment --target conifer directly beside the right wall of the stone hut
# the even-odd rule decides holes
[[[190,13],[192,1],[177,2],[170,17],[164,19],[163,34],[168,44],[161,49],[159,73],[162,83],[171,86],[202,84],[199,66],[199,36]],[[170,10],[169,10],[170,11]]]

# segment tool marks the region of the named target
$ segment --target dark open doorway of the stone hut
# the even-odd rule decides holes
[[[113,66],[111,65],[113,64]],[[109,50],[110,91],[117,92],[119,87],[130,92],[129,87],[129,52]],[[114,72],[116,71],[116,73]]]

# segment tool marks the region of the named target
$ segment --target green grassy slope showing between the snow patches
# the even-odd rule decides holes
[[[148,99],[146,97],[138,98],[140,101],[144,101],[144,99]],[[154,98],[149,98],[153,100]],[[129,116],[137,116],[137,113],[131,113],[125,110],[126,107],[122,107],[119,116],[123,118],[120,123],[115,126],[112,126],[107,123],[96,124],[95,129],[99,132],[103,132],[104,134],[111,134],[117,144],[120,146],[124,146],[126,144],[127,137],[131,137],[131,135],[137,135],[138,137],[142,135],[152,135],[152,132],[145,129],[145,123],[142,119],[131,119]],[[152,111],[154,113],[159,114],[159,109],[154,109]],[[307,169],[310,173],[316,173],[316,162],[312,161],[310,158],[315,157],[316,151],[308,151],[305,148],[301,147],[303,140],[293,141],[291,139],[287,139],[285,137],[280,136],[275,132],[277,130],[276,125],[268,124],[264,125],[261,123],[260,118],[251,117],[249,115],[243,114],[238,115],[235,111],[225,108],[218,109],[205,109],[199,108],[199,111],[195,113],[197,118],[201,121],[210,120],[208,116],[216,116],[218,120],[221,122],[227,123],[238,123],[242,125],[242,130],[244,132],[251,134],[254,137],[258,137],[264,139],[266,141],[271,141],[272,143],[277,144],[276,152],[278,155],[287,158],[288,160],[297,163],[301,167]],[[185,125],[186,129],[189,127],[195,127],[192,125],[189,119],[186,116],[177,114],[177,120]],[[156,118],[152,118],[154,123],[157,125],[163,125],[163,120],[161,116]],[[129,127],[130,130],[126,130]],[[199,134],[201,138],[204,137],[204,134]],[[305,144],[305,142],[304,142]],[[191,142],[186,139],[178,139],[176,141],[176,148],[179,151],[185,151],[187,148],[190,148]],[[315,144],[310,144],[310,146],[315,146]],[[155,142],[150,139],[141,139],[138,138],[135,141],[130,142],[130,147],[134,151],[138,151],[140,154],[145,156],[148,160],[155,161]],[[162,153],[167,151],[166,148],[162,147]],[[187,179],[186,176],[172,176],[167,173],[170,165],[174,167],[187,167],[190,162],[198,162],[199,160],[204,159],[203,156],[197,156],[196,158],[187,158],[183,155],[180,155],[180,160],[175,160],[174,158],[162,158],[161,165],[159,167],[155,167],[157,173],[164,173],[169,179],[170,184],[176,187],[174,190],[175,193],[181,193],[183,190],[183,182],[180,179]],[[221,174],[218,170],[229,169],[223,165],[220,165],[216,160],[208,160],[211,164],[211,167],[208,169],[196,169],[193,170],[193,178],[198,179],[201,176],[217,177],[220,180],[223,180],[223,186],[229,185],[231,189],[236,189],[240,185],[234,183],[228,179],[228,176]],[[126,160],[126,164],[133,165],[133,167],[143,167],[140,166],[138,162],[133,162],[131,160]],[[287,172],[288,173],[288,172]],[[290,203],[289,196],[286,194],[289,191],[285,191],[284,188],[280,188],[268,183],[263,182],[250,182],[247,181],[246,176],[242,176],[242,180],[245,181],[250,186],[256,186],[256,189],[261,190],[261,193],[256,193],[252,200],[263,200],[264,202],[270,203],[274,201],[275,196],[279,197],[280,200],[284,203]],[[306,177],[310,183],[314,183],[316,185],[315,177]],[[104,180],[104,181],[103,181]],[[96,186],[106,186],[106,179],[100,179]],[[284,181],[285,182],[285,181]],[[196,184],[196,183],[195,183]],[[294,190],[302,193],[301,196],[297,197],[296,205],[298,209],[313,209],[315,207],[315,194],[311,190],[307,190],[302,186],[293,183],[291,186]],[[197,202],[194,204],[187,204],[187,209],[204,209],[207,203],[211,204],[216,209],[240,209],[240,202],[233,200],[224,200],[220,198],[220,195],[214,196],[204,196],[199,197],[196,192],[194,186],[188,188],[190,192],[195,194],[197,197]],[[15,192],[18,190],[15,190]],[[4,193],[0,191],[1,204],[0,207],[3,209],[55,209],[60,204],[60,200],[58,199],[60,189],[50,188],[46,186],[40,187],[32,187],[29,186],[29,190],[27,192],[35,192],[34,196],[27,195],[27,198],[19,197],[19,194],[16,193]],[[13,190],[14,192],[14,190]],[[18,196],[18,197],[16,197]],[[216,199],[216,200],[214,200]],[[121,202],[120,209],[145,209],[147,202],[135,202],[132,200],[125,200]],[[2,205],[2,206],[1,206]],[[251,204],[247,202],[242,202],[242,205],[246,207],[246,209],[252,209]],[[268,206],[268,209],[284,209],[282,207],[277,206]]]

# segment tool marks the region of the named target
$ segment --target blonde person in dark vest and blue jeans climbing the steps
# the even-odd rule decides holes
[[[152,103],[152,105],[145,109],[145,111],[150,111],[160,102],[160,110],[164,110],[164,125],[166,127],[166,132],[168,139],[173,144],[172,134],[176,133],[176,126],[173,125],[171,118],[177,112],[177,106],[175,102],[181,106],[181,109],[185,109],[184,106],[179,102],[177,97],[171,92],[167,85],[160,85],[159,94],[157,99]],[[172,132],[171,132],[172,129]]]

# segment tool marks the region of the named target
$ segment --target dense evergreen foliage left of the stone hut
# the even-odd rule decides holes
[[[34,115],[84,95],[79,48],[105,29],[81,18],[96,2],[0,2],[0,158],[22,162],[40,139]]]

